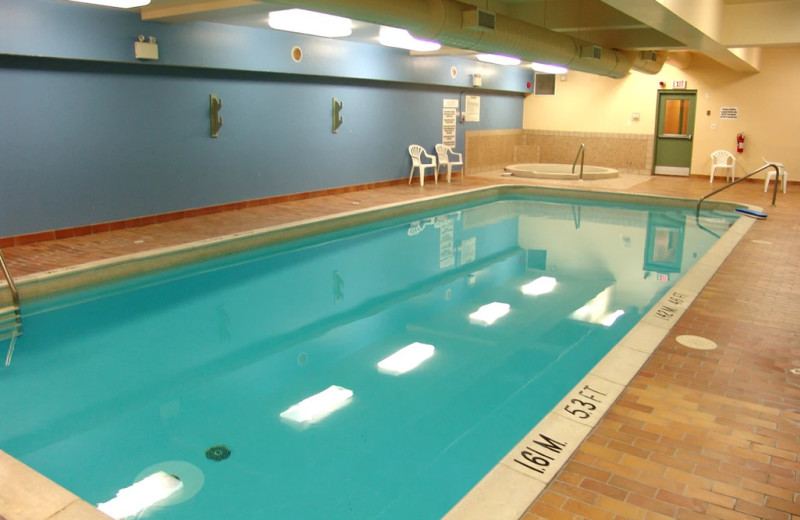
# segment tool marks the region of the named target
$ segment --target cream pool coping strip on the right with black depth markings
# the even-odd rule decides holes
[[[761,208],[739,204],[755,211]],[[739,218],[443,520],[519,520],[647,363],[753,226]],[[575,402],[590,403],[589,410]]]

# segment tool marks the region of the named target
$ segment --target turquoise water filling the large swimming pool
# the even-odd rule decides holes
[[[493,199],[24,305],[0,447],[95,504],[175,473],[153,519],[440,518],[734,218]],[[332,385],[338,409],[285,417]]]

